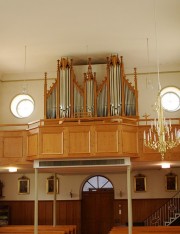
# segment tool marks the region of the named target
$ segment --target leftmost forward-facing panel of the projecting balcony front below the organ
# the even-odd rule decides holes
[[[42,154],[63,154],[63,132],[42,133]]]

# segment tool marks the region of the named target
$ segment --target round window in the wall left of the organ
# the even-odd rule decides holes
[[[11,111],[17,118],[29,117],[34,111],[34,100],[28,94],[19,94],[11,102]]]

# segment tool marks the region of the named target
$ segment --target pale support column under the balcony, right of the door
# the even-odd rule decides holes
[[[127,166],[128,234],[132,234],[131,166]]]

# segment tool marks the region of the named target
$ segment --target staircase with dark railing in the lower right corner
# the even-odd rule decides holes
[[[163,206],[150,215],[145,226],[180,225],[180,191],[170,198]]]

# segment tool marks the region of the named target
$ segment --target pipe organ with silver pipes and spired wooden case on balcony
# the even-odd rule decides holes
[[[97,78],[90,58],[81,85],[76,79],[73,61],[58,60],[57,78],[49,90],[45,73],[44,118],[138,116],[136,69],[133,86],[126,79],[123,58],[112,55],[107,58],[106,77],[100,84]]]

